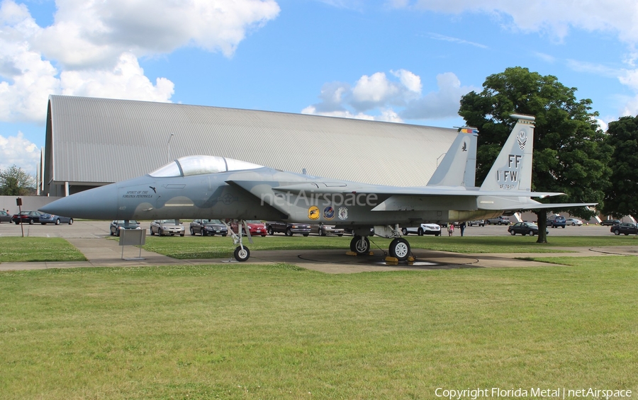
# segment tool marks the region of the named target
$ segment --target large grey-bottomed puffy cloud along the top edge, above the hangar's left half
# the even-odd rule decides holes
[[[251,30],[279,14],[274,0],[57,0],[55,23],[33,45],[67,67],[113,67],[186,45],[230,57]]]

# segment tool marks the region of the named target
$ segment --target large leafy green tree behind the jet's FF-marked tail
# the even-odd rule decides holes
[[[612,148],[591,111],[591,100],[576,99],[576,88],[561,84],[556,76],[542,76],[527,68],[513,67],[488,76],[483,91],[461,98],[459,115],[469,126],[478,127],[477,182],[487,175],[515,120],[511,114],[534,115],[532,190],[561,192],[541,202],[598,202],[608,188],[608,161]],[[564,211],[564,208],[552,210]],[[539,225],[539,243],[547,242],[547,209],[532,210]],[[591,218],[585,207],[569,210]]]

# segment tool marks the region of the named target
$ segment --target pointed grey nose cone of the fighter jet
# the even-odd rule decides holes
[[[41,212],[85,219],[118,219],[118,188],[106,185],[85,190],[40,207]]]

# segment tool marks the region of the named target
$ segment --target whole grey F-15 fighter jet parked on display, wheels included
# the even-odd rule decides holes
[[[517,123],[480,188],[474,186],[478,132],[464,128],[424,187],[371,185],[219,156],[186,156],[145,176],[56,200],[40,211],[87,219],[236,219],[242,225],[247,219],[263,219],[332,224],[352,229],[350,250],[357,254],[369,252],[368,236],[373,233],[392,238],[388,252],[403,261],[410,256],[410,244],[401,237],[401,226],[595,205],[532,200],[563,193],[531,191],[535,119],[512,117]],[[250,251],[242,236],[232,236],[237,245],[235,258],[246,261]],[[252,243],[250,234],[247,237]]]

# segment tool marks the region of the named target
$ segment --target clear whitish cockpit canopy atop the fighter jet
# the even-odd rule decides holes
[[[186,156],[162,166],[149,175],[154,178],[171,178],[256,168],[263,166],[218,156]]]

